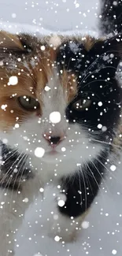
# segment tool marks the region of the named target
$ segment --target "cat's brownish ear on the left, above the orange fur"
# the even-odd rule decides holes
[[[0,57],[6,54],[26,54],[28,47],[24,44],[23,35],[13,35],[0,31]]]

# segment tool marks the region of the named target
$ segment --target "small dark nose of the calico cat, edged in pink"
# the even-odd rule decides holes
[[[45,133],[44,135],[44,138],[50,143],[50,146],[51,147],[56,147],[58,143],[61,142],[62,139],[65,138],[64,135],[61,135],[61,136],[52,136],[48,133]]]

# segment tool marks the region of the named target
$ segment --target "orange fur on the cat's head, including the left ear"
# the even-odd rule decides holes
[[[0,32],[0,39],[3,37],[4,32]],[[10,46],[10,49],[24,50],[18,36],[5,33],[5,37],[7,49]],[[14,59],[15,68],[9,69],[11,58],[7,61],[8,68],[4,65],[0,67],[0,128],[2,130],[7,131],[14,127],[16,123],[21,124],[28,116],[34,114],[34,112],[31,113],[20,107],[17,101],[19,96],[28,95],[38,98],[40,103],[38,114],[42,114],[43,98],[41,95],[49,77],[53,76],[56,70],[57,50],[47,43],[44,45],[45,48],[43,47],[44,50],[41,46],[42,43],[38,43],[34,53],[29,53],[24,60],[22,58],[21,61],[18,61],[17,58]],[[10,76],[17,76],[18,83],[16,85],[9,85]],[[63,70],[61,76],[59,76],[59,86],[60,84],[64,88],[66,102],[71,102],[77,91],[75,76]],[[2,109],[3,106],[6,106],[5,109]]]

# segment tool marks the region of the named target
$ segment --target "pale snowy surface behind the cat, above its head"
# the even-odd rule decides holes
[[[52,31],[96,28],[100,0],[1,0],[2,21]]]

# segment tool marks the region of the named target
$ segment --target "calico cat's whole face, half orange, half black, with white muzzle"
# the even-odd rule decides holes
[[[9,39],[8,39],[9,37]],[[1,139],[27,154],[33,169],[61,176],[92,161],[113,139],[120,115],[116,39],[1,35]],[[5,42],[9,41],[3,49]],[[62,41],[61,41],[62,40]],[[10,49],[9,49],[10,46]],[[111,49],[110,49],[111,47]]]

